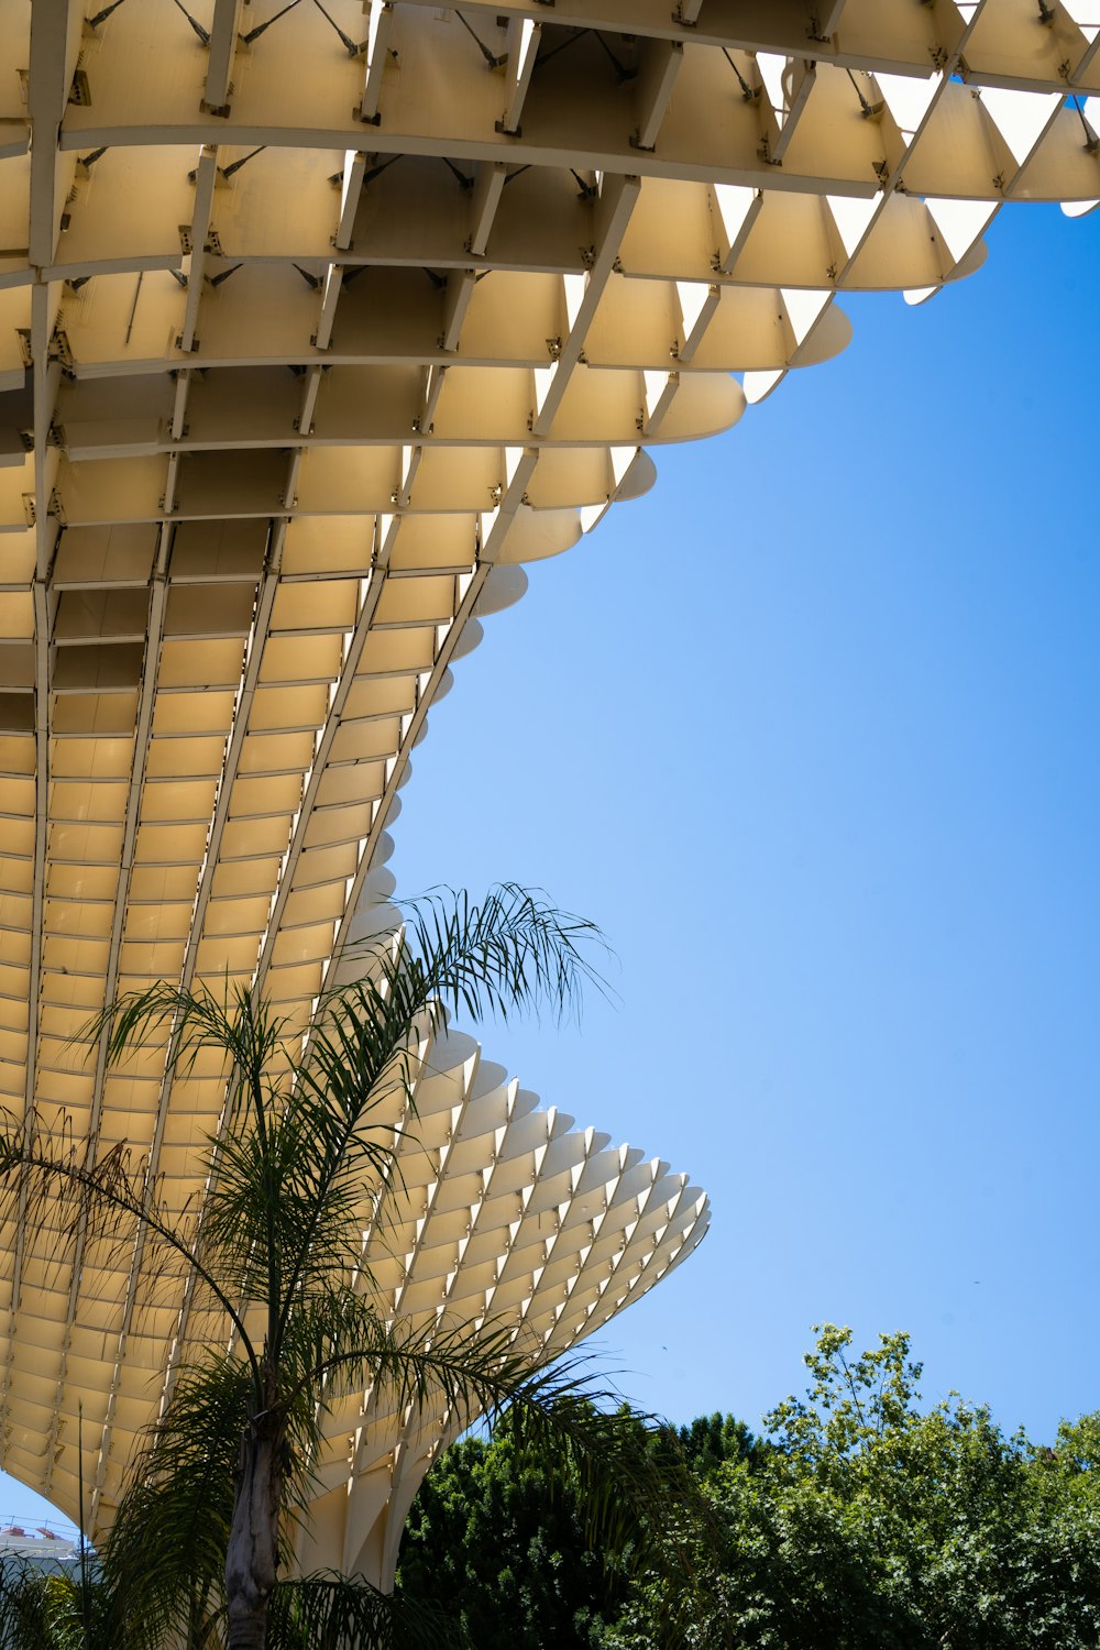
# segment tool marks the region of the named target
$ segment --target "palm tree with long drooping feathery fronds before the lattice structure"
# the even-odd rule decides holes
[[[325,1404],[371,1383],[402,1406],[458,1419],[511,1401],[533,1447],[552,1431],[574,1454],[605,1530],[622,1530],[632,1502],[651,1497],[637,1424],[585,1402],[576,1366],[533,1371],[503,1325],[427,1333],[389,1322],[361,1274],[363,1201],[394,1167],[386,1099],[397,1089],[412,1102],[424,1036],[450,1011],[566,1013],[581,985],[599,980],[587,959],[599,939],[592,924],[503,884],[480,904],[434,894],[409,906],[404,924],[361,954],[360,977],[322,1000],[305,1041],[247,990],[218,998],[155,985],[120,998],[91,1026],[110,1063],[165,1028],[176,1071],[209,1049],[224,1058],[226,1122],[190,1216],[163,1203],[145,1162],[114,1153],[92,1165],[33,1119],[0,1135],[0,1188],[25,1219],[56,1229],[61,1200],[99,1241],[127,1249],[140,1233],[145,1284],[186,1282],[218,1325],[208,1345],[223,1350],[185,1365],[104,1549],[107,1579],[122,1587],[129,1577],[129,1634],[229,1650],[368,1645],[383,1630],[397,1642],[389,1605],[364,1584],[279,1582],[287,1520],[308,1505]]]

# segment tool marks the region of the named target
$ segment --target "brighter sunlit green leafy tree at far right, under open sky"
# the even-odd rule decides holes
[[[765,1417],[770,1449],[719,1464],[706,1493],[722,1551],[681,1599],[706,1650],[1097,1650],[1098,1417],[1052,1449],[1006,1437],[952,1394],[922,1409],[907,1335],[853,1358],[825,1325],[805,1398]],[[609,1645],[658,1650],[658,1577]]]

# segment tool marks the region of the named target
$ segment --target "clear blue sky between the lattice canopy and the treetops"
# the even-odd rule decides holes
[[[1049,1437],[1100,1407],[1100,213],[1003,211],[529,569],[402,792],[402,893],[548,888],[617,1005],[488,1026],[688,1170],[703,1247],[600,1338],[749,1422],[821,1320]],[[0,1477],[0,1511],[26,1498]]]

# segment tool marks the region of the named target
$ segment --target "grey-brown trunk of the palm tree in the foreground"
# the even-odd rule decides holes
[[[267,1426],[264,1422],[267,1421]],[[267,1600],[275,1586],[279,1508],[285,1439],[267,1416],[252,1421],[241,1444],[233,1526],[226,1551],[229,1650],[264,1650]]]

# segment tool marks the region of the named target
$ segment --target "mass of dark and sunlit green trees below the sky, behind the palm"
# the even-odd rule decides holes
[[[816,1335],[808,1391],[764,1437],[712,1416],[650,1440],[676,1444],[711,1513],[655,1518],[694,1554],[675,1599],[645,1561],[605,1576],[569,1482],[549,1498],[552,1462],[519,1468],[506,1440],[429,1475],[401,1586],[454,1597],[478,1650],[665,1650],[670,1609],[696,1650],[1097,1650],[1100,1416],[1037,1447],[958,1394],[922,1406],[907,1335],[859,1356],[849,1330]]]

